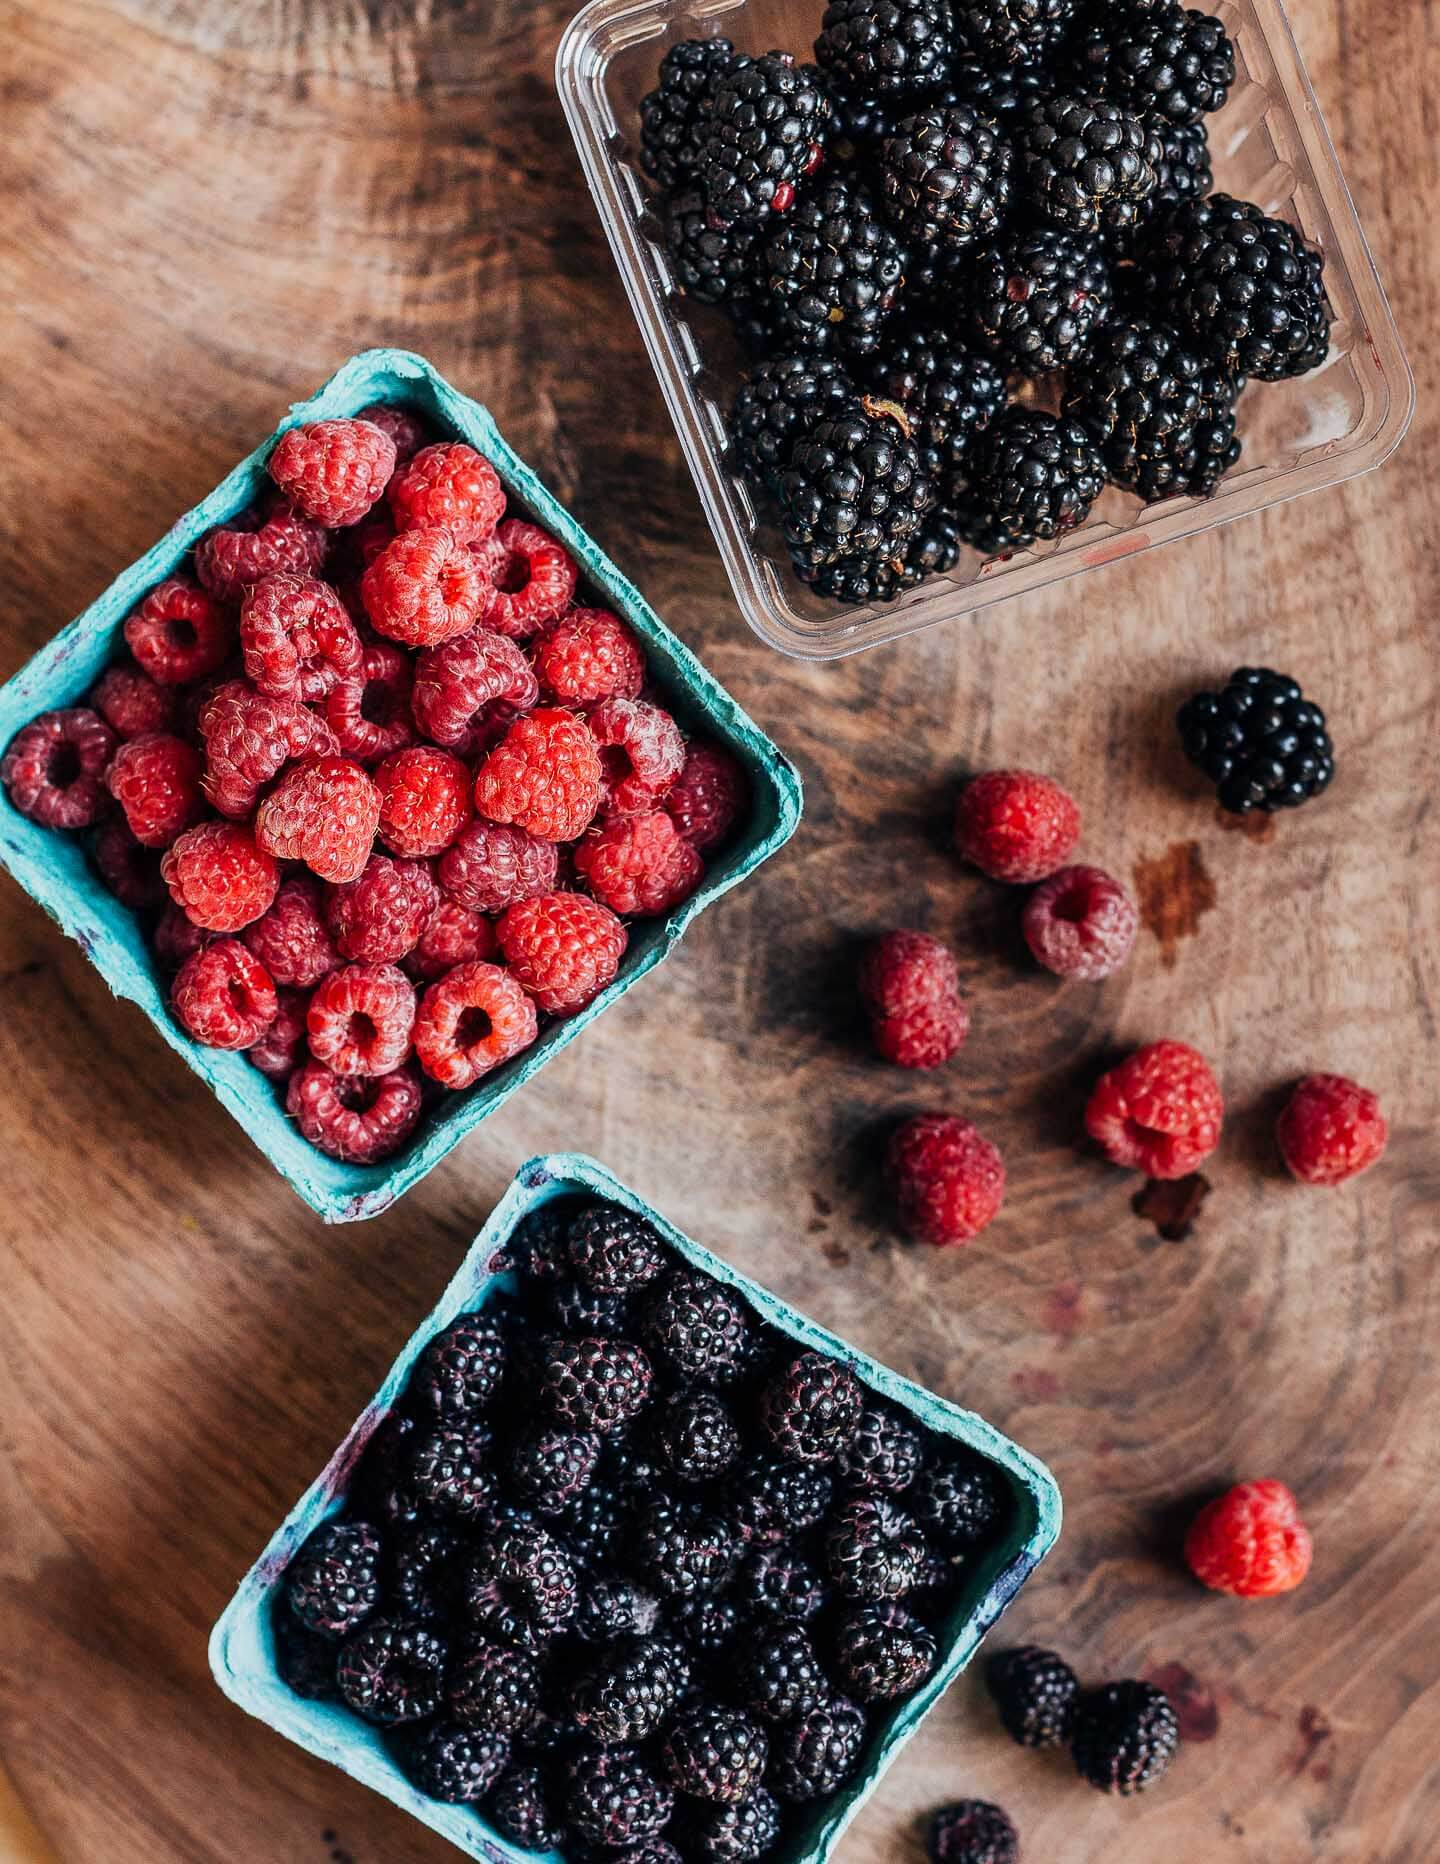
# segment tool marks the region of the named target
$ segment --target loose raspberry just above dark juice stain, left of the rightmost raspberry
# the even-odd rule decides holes
[[[1151,1042],[1095,1081],[1084,1124],[1112,1165],[1185,1178],[1220,1144],[1222,1115],[1205,1057],[1185,1042]]]

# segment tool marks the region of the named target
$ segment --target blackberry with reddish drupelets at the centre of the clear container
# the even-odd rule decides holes
[[[1097,239],[1039,227],[976,257],[971,330],[1012,369],[1051,375],[1088,352],[1110,296],[1110,263]]]

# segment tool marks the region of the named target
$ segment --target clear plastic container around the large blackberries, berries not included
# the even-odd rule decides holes
[[[745,621],[784,654],[838,660],[956,621],[1153,544],[1339,485],[1393,453],[1414,412],[1414,380],[1354,203],[1280,0],[1224,0],[1237,82],[1209,117],[1216,188],[1298,224],[1325,254],[1330,356],[1295,382],[1241,399],[1244,455],[1209,500],[1144,505],[1108,487],[1088,522],[1054,544],[958,569],[898,602],[825,602],[792,574],[779,529],[725,464],[725,408],[740,354],[725,321],[672,289],[650,183],[637,162],[639,101],[669,45],[704,34],[741,52],[808,58],[822,0],[591,0],[561,39],[555,69],[585,177],[624,278]]]

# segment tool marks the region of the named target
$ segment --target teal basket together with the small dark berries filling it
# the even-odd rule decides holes
[[[551,1156],[240,1583],[211,1668],[466,1857],[579,1864],[641,1827],[646,1857],[758,1855],[699,1836],[743,1814],[768,1864],[827,1864],[1058,1530],[1049,1471],[984,1419]]]

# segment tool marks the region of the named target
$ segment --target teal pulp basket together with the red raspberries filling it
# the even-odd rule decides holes
[[[799,809],[406,350],[345,363],[0,688],[0,861],[330,1221],[445,1158]]]

